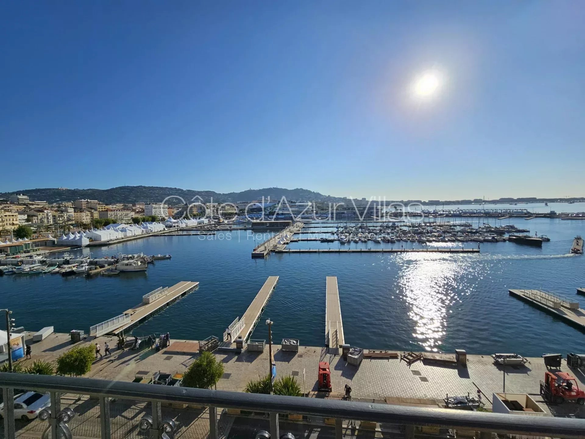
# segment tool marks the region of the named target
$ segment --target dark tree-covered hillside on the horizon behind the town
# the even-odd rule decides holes
[[[112,203],[136,203],[139,201],[152,201],[160,203],[166,197],[178,196],[185,202],[190,203],[192,198],[201,197],[204,201],[211,198],[214,202],[219,203],[237,203],[238,201],[260,200],[262,196],[270,197],[271,200],[280,200],[286,197],[287,200],[315,200],[315,201],[340,201],[341,198],[324,196],[318,192],[307,189],[284,189],[280,187],[269,187],[264,189],[250,189],[242,192],[230,192],[221,194],[214,191],[195,191],[185,190],[177,187],[160,187],[160,186],[119,186],[110,189],[63,189],[63,188],[37,188],[15,191],[10,193],[0,193],[0,198],[8,198],[15,194],[25,194],[30,200],[42,200],[48,203],[58,203],[59,201],[71,201],[87,198],[89,200],[99,200],[105,204]],[[180,198],[168,200],[170,204],[180,204]]]

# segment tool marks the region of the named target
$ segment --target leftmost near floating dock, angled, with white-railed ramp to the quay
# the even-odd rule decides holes
[[[190,293],[199,286],[199,282],[183,281],[172,287],[159,287],[142,296],[142,301],[135,307],[90,328],[90,335],[99,337],[104,334],[119,334],[142,323],[164,306]]]

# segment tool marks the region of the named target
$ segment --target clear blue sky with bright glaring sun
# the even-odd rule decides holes
[[[3,2],[0,192],[585,196],[583,23],[580,0]]]

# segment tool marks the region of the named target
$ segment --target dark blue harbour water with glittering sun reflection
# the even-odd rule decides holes
[[[552,204],[552,203],[550,203]],[[585,204],[537,208],[585,211]],[[472,206],[473,207],[473,206]],[[506,208],[496,205],[487,208]],[[464,208],[464,207],[460,207]],[[468,207],[469,208],[469,207]],[[477,205],[474,207],[477,208]],[[510,206],[510,208],[512,208]],[[433,221],[462,221],[439,218]],[[92,257],[117,253],[157,255],[147,272],[119,276],[0,277],[0,308],[9,308],[16,327],[37,331],[89,331],[140,303],[144,294],[181,280],[197,290],[137,326],[133,334],[169,332],[173,339],[221,338],[241,317],[268,276],[278,284],[252,334],[267,339],[264,321],[274,322],[273,340],[297,338],[302,345],[325,343],[325,277],[337,276],[346,342],[369,349],[470,354],[585,352],[585,333],[508,294],[508,289],[543,289],[581,301],[585,256],[572,255],[574,236],[585,221],[535,218],[466,218],[473,225],[514,224],[531,235],[548,235],[542,248],[512,242],[480,243],[480,253],[302,253],[252,259],[256,243],[271,232],[233,231],[201,236],[149,236],[116,245],[70,251]],[[315,229],[316,230],[316,229]],[[335,230],[335,226],[319,231]],[[344,248],[425,248],[418,243],[351,243]],[[477,248],[476,242],[432,243],[430,247]],[[337,248],[339,242],[295,242],[290,248]],[[59,253],[53,253],[59,256]]]

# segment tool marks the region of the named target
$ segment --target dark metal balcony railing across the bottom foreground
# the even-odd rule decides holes
[[[2,387],[5,402],[3,413],[5,438],[9,439],[15,437],[13,389],[50,393],[51,406],[47,420],[53,438],[59,437],[59,426],[62,425],[64,419],[67,422],[67,413],[61,410],[60,395],[62,394],[89,395],[99,399],[101,437],[104,439],[111,438],[110,398],[152,403],[150,435],[153,438],[166,437],[164,432],[167,425],[161,416],[161,403],[195,404],[208,407],[209,439],[217,439],[218,437],[216,416],[218,407],[270,413],[270,437],[273,439],[280,437],[278,431],[279,414],[303,414],[311,417],[335,419],[336,439],[341,439],[343,436],[343,420],[371,421],[400,426],[402,432],[400,435],[407,439],[417,437],[417,426],[478,431],[482,439],[492,437],[491,433],[566,439],[585,438],[585,420],[583,419],[426,409],[392,404],[256,395],[222,390],[24,373],[0,373],[0,387]],[[400,437],[400,435],[392,437]]]

